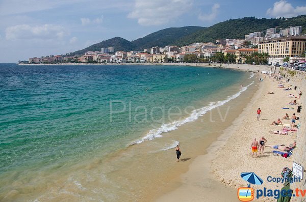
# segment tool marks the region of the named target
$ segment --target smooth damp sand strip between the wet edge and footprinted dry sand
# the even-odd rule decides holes
[[[265,87],[263,83],[260,84],[259,88],[251,97],[250,102],[243,108],[238,117],[209,145],[206,149],[206,154],[197,156],[190,163],[188,171],[181,174],[178,179],[176,179],[176,181],[181,182],[181,186],[174,187],[174,189],[170,188],[168,192],[160,194],[154,201],[216,201],[217,199],[218,201],[235,202],[238,200],[237,189],[231,187],[233,183],[229,182],[228,184],[224,184],[222,183],[224,179],[217,179],[215,174],[216,169],[213,167],[212,162],[217,158],[218,150],[220,150],[226,144],[227,140],[233,136],[235,131],[238,130],[239,124],[243,121],[245,116],[247,116],[249,109],[260,97]],[[207,183],[206,186],[202,186],[201,184],[205,181],[209,183]],[[208,191],[209,195],[207,194]],[[216,195],[218,197],[216,197]],[[253,201],[256,202],[259,200],[254,199]]]

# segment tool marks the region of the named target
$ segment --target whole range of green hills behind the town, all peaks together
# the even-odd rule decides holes
[[[120,37],[115,37],[93,44],[73,54],[84,54],[87,51],[100,51],[102,47],[114,47],[116,51],[143,50],[154,46],[164,47],[167,45],[183,46],[197,42],[216,42],[216,39],[237,39],[244,38],[252,32],[265,31],[267,28],[281,28],[289,26],[302,26],[302,34],[306,34],[306,15],[292,18],[277,19],[257,19],[255,17],[245,17],[241,19],[230,19],[214,24],[210,27],[184,26],[171,27],[157,31],[134,41],[127,41]]]

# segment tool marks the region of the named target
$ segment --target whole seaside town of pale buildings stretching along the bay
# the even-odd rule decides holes
[[[305,64],[306,35],[301,26],[276,33],[276,28],[245,35],[244,39],[217,39],[215,43],[191,43],[182,47],[151,47],[143,51],[122,51],[103,47],[84,55],[48,55],[32,57],[29,64],[58,63],[246,63],[297,66]]]

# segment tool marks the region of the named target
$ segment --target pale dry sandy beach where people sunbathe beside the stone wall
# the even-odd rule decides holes
[[[264,75],[260,76],[264,77]],[[190,165],[189,170],[176,179],[182,185],[171,190],[170,187],[174,187],[175,182],[169,184],[168,193],[162,193],[156,201],[239,201],[237,188],[247,186],[247,183],[240,177],[241,172],[255,172],[263,179],[263,185],[251,185],[255,190],[264,187],[281,189],[282,183],[267,182],[267,177],[281,177],[283,167],[292,167],[293,158],[285,159],[282,156],[274,156],[272,151],[275,149],[267,147],[264,153],[257,158],[250,156],[250,143],[254,137],[259,140],[261,135],[264,135],[268,140],[266,145],[289,145],[296,139],[296,132],[290,132],[289,135],[269,133],[274,130],[282,130],[283,126],[271,126],[270,124],[277,118],[282,119],[285,113],[291,117],[297,108],[297,105],[287,104],[293,99],[286,96],[296,92],[278,89],[277,84],[278,81],[268,76],[263,82],[260,82],[260,88],[248,106],[233,125],[225,130],[218,141],[210,146],[209,154],[198,156]],[[285,86],[288,85],[288,83],[285,84]],[[275,94],[267,94],[268,92]],[[262,109],[260,121],[256,121],[258,107]],[[294,110],[282,109],[282,107],[294,107]],[[290,124],[290,120],[282,121],[284,124]],[[222,182],[223,186],[216,181]],[[261,197],[260,199],[275,200],[273,197]]]

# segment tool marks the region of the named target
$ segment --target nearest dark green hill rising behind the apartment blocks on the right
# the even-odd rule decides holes
[[[242,19],[230,19],[214,24],[204,30],[195,32],[180,40],[176,40],[171,45],[183,46],[197,42],[216,42],[216,39],[237,39],[243,38],[252,32],[264,31],[267,28],[287,28],[289,26],[302,26],[302,34],[306,34],[306,15],[293,18],[277,19],[257,19],[255,17],[245,17]]]

